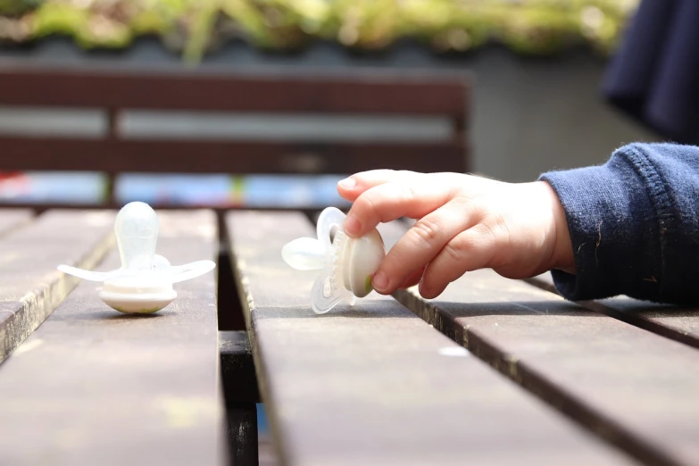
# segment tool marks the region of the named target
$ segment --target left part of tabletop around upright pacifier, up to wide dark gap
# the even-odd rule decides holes
[[[0,365],[0,464],[220,463],[215,274],[181,283],[152,316],[120,314],[94,282],[56,270],[118,267],[114,212],[12,215],[0,214],[0,355],[13,350]],[[172,263],[218,254],[212,212],[160,222]]]

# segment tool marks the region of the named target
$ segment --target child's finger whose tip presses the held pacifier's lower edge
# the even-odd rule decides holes
[[[388,251],[371,280],[373,287],[383,294],[405,287],[414,279],[415,270],[428,266],[445,245],[475,221],[478,219],[470,214],[468,202],[462,198],[449,201],[429,213]]]

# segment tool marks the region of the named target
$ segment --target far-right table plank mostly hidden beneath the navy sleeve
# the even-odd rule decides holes
[[[557,293],[550,273],[527,281],[536,287]],[[581,301],[578,304],[596,312],[603,312],[615,319],[624,320],[641,329],[699,348],[699,311],[696,308],[648,303],[627,296]]]

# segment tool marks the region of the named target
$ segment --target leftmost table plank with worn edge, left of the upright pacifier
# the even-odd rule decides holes
[[[94,267],[113,244],[112,212],[41,215],[0,239],[0,362],[78,283],[61,263]]]

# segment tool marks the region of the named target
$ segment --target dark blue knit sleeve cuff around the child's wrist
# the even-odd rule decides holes
[[[561,200],[570,231],[576,273],[552,271],[567,299],[657,296],[660,229],[642,165],[627,146],[602,166],[541,176]]]

